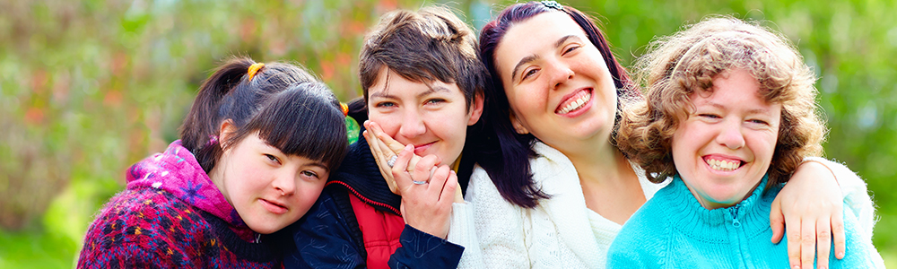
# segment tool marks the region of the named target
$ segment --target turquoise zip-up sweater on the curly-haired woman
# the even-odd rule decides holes
[[[768,177],[741,203],[707,210],[678,176],[623,225],[607,268],[788,268],[787,240],[772,244],[770,209],[783,185],[764,192]],[[847,256],[829,268],[884,268],[870,237],[844,206]]]

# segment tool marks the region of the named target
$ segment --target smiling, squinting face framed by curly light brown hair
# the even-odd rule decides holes
[[[673,161],[704,208],[741,202],[770,167],[781,105],[759,91],[750,73],[735,69],[715,77],[712,91],[690,96],[694,110],[673,134]]]

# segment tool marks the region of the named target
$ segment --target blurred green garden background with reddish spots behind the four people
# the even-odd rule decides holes
[[[199,84],[231,55],[306,65],[341,100],[358,50],[405,0],[0,2],[0,268],[73,267],[124,170],[177,139]],[[826,156],[866,178],[875,246],[897,267],[897,4],[887,1],[562,1],[597,16],[623,65],[708,14],[767,20],[821,77]],[[479,29],[508,2],[448,3]]]

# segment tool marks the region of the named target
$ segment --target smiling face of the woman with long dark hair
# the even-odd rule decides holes
[[[541,13],[511,26],[495,49],[495,65],[518,132],[526,129],[562,152],[578,140],[610,137],[614,80],[570,15]]]

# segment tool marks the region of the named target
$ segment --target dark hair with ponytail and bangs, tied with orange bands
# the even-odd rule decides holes
[[[225,121],[235,133],[219,141]],[[343,123],[333,92],[302,67],[235,57],[203,83],[181,126],[181,140],[206,173],[224,150],[256,133],[285,154],[323,161],[332,169],[344,157]]]

